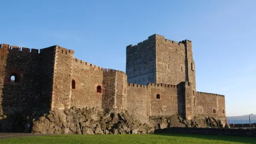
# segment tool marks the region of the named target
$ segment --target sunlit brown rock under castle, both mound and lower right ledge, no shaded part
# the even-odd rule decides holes
[[[149,125],[148,125],[149,124]],[[54,110],[33,121],[32,132],[44,134],[128,134],[148,133],[155,129],[167,127],[215,127],[223,128],[220,120],[200,117],[184,120],[178,115],[171,117],[150,118],[148,124],[142,124],[122,112],[103,112],[100,108],[72,107],[65,110]]]

